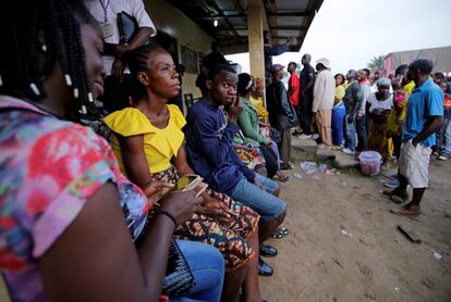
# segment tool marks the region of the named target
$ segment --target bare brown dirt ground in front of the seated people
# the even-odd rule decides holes
[[[451,301],[451,161],[432,162],[430,172],[423,214],[409,218],[390,213],[397,205],[382,196],[382,177],[341,173],[314,180],[296,164],[281,185],[290,235],[268,242],[279,255],[267,259],[275,275],[260,277],[264,298]],[[412,228],[423,242],[411,242],[398,225]]]

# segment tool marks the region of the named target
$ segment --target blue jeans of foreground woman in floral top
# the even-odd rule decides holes
[[[170,297],[171,302],[220,301],[224,280],[224,260],[211,246],[176,240],[193,272],[196,286],[187,297]]]

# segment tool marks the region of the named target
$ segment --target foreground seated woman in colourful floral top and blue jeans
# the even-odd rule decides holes
[[[0,56],[0,268],[11,300],[158,301],[174,222],[188,219],[200,200],[175,192],[149,219],[146,196],[120,173],[108,142],[64,121],[85,115],[102,92],[101,30],[83,1],[11,1],[8,12],[0,26],[10,46]],[[186,297],[219,301],[220,253],[179,244],[196,281]]]

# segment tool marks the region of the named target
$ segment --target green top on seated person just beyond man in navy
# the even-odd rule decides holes
[[[268,144],[269,139],[258,133],[258,114],[255,106],[249,100],[240,98],[243,103],[243,112],[240,114],[237,123],[243,130],[246,142],[253,147],[259,147],[260,143]]]

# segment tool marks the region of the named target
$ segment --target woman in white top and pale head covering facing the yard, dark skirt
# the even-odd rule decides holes
[[[388,117],[393,109],[393,96],[390,95],[391,80],[381,77],[376,81],[378,91],[369,95],[370,128],[368,136],[368,150],[375,150],[382,155],[382,164],[389,158]]]

